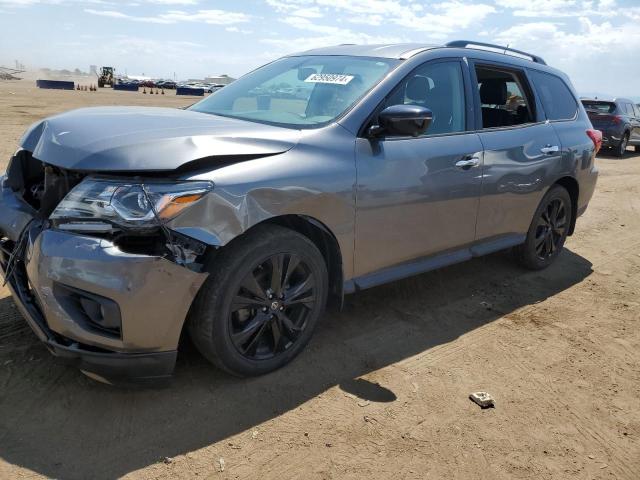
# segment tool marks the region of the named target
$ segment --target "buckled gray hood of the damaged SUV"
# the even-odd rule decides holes
[[[188,110],[100,107],[35,123],[20,146],[65,169],[139,172],[276,155],[299,137],[298,130]]]

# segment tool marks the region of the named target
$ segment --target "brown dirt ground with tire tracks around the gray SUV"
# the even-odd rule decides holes
[[[56,112],[192,101],[0,82],[0,158]],[[261,378],[187,344],[170,388],[95,383],[49,355],[2,289],[0,478],[640,478],[640,155],[597,163],[553,267],[498,253],[349,296]]]

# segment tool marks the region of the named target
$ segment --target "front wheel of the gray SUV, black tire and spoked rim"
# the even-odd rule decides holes
[[[327,301],[327,267],[317,247],[297,232],[264,225],[209,263],[188,322],[198,350],[241,377],[289,363],[309,342]]]

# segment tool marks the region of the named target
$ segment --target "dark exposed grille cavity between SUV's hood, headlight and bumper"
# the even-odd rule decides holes
[[[84,175],[47,165],[20,150],[7,169],[6,185],[39,214],[47,218]]]

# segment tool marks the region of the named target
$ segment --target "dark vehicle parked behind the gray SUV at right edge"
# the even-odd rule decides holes
[[[602,132],[602,145],[611,147],[622,157],[628,146],[640,152],[640,107],[631,100],[616,98],[612,101],[582,99],[587,115]]]

